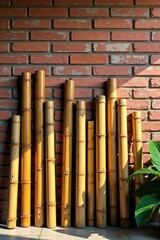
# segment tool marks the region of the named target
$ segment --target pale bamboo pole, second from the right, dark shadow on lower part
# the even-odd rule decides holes
[[[118,101],[118,156],[120,226],[129,227],[128,135],[126,99]]]

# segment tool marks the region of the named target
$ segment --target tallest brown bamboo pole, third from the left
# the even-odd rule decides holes
[[[35,79],[35,226],[44,225],[44,101],[45,72]]]

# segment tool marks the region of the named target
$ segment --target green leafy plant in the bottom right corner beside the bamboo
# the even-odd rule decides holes
[[[158,210],[160,215],[160,142],[150,141],[149,152],[151,156],[151,166],[139,169],[132,173],[128,180],[138,174],[143,174],[147,178],[135,191],[135,196],[139,197],[135,209],[135,219],[138,227],[144,226]]]

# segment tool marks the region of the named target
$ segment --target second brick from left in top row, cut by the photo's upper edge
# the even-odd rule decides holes
[[[17,6],[41,6],[41,5],[52,5],[52,0],[23,0],[23,1],[19,1],[19,0],[13,0],[13,5],[17,5]]]

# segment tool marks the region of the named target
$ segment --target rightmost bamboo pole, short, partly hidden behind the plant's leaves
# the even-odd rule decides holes
[[[141,112],[132,113],[132,131],[133,131],[133,155],[134,155],[134,171],[143,168],[143,156],[142,156],[142,122]],[[136,176],[134,180],[135,190],[140,187],[143,182],[142,176]],[[138,197],[135,197],[135,204],[139,201]]]

